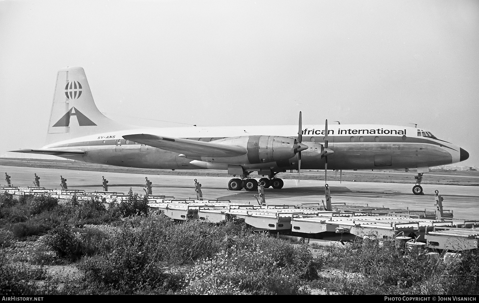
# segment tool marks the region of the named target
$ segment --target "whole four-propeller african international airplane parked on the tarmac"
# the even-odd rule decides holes
[[[276,174],[308,170],[417,169],[412,192],[423,194],[429,167],[468,159],[459,146],[430,131],[397,125],[325,125],[145,128],[105,117],[85,71],[57,73],[46,145],[14,152],[50,154],[86,163],[155,169],[226,170],[229,190],[280,189]],[[250,176],[257,172],[257,181]]]

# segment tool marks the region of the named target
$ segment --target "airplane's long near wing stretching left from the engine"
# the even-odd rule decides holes
[[[123,136],[124,139],[157,147],[162,150],[182,153],[196,157],[234,157],[242,156],[248,151],[238,145],[226,145],[214,142],[195,141],[189,139],[160,137],[150,134]]]

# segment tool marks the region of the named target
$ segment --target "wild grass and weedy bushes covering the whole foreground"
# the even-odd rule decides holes
[[[361,240],[324,248],[313,257],[307,245],[252,233],[244,223],[177,223],[150,214],[148,197],[131,191],[108,207],[99,199],[57,203],[0,195],[0,201],[2,293],[308,294],[318,288],[340,294],[479,292],[478,250],[445,262],[398,250],[393,242]],[[29,235],[44,235],[45,246],[34,264],[74,262],[81,279],[59,287],[42,267],[9,263],[6,247]]]

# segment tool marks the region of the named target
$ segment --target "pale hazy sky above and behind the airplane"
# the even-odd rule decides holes
[[[0,0],[0,154],[43,146],[81,66],[130,124],[412,122],[479,166],[478,60],[475,0]]]

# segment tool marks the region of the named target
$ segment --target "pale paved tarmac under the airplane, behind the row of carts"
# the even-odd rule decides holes
[[[228,199],[238,202],[257,203],[257,192],[229,191],[229,177],[182,176],[182,175],[142,175],[125,173],[102,173],[65,169],[0,165],[0,185],[5,186],[5,173],[11,176],[13,186],[33,186],[34,174],[40,176],[40,186],[61,188],[60,175],[67,179],[68,189],[103,191],[102,176],[109,181],[109,191],[127,193],[130,187],[138,194],[145,194],[145,177],[148,177],[153,194],[174,196],[175,198],[196,198],[194,179],[202,184],[205,199]],[[321,203],[324,199],[324,181],[284,180],[282,189],[265,189],[268,203],[300,204]],[[479,187],[457,185],[423,184],[423,196],[412,193],[414,184],[379,182],[342,182],[328,181],[331,187],[331,200],[346,202],[348,205],[368,205],[390,209],[435,210],[434,190],[443,196],[445,210],[454,210],[454,218],[479,220]]]

